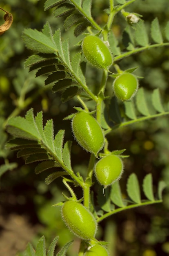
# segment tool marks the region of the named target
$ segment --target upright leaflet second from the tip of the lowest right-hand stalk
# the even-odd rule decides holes
[[[143,191],[145,193],[145,196],[150,200],[150,201],[155,201],[154,195],[153,195],[153,183],[152,183],[152,175],[147,174],[143,180]]]

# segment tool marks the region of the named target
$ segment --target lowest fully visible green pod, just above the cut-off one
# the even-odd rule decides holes
[[[82,204],[67,201],[62,207],[62,219],[70,231],[82,240],[93,239],[97,224],[93,214]]]

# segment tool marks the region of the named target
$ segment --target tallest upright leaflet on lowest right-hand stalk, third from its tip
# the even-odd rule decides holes
[[[140,188],[138,178],[135,173],[132,173],[127,180],[127,193],[133,202],[140,204]]]

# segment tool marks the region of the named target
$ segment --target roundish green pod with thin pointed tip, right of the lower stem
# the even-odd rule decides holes
[[[98,182],[105,188],[116,182],[122,175],[123,163],[117,155],[107,155],[95,165],[95,175]]]

